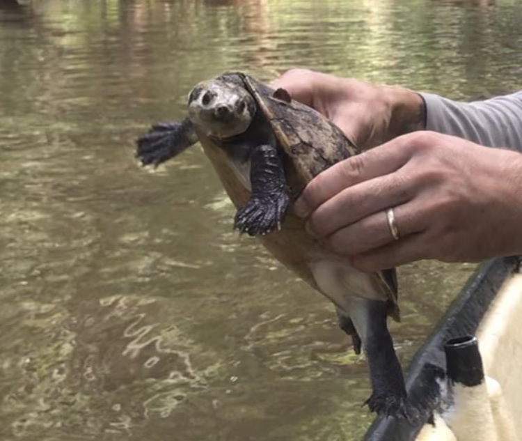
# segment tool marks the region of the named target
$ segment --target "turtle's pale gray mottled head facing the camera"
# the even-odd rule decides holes
[[[220,79],[197,84],[189,95],[192,123],[219,139],[242,134],[250,125],[255,108],[255,100],[248,91]]]

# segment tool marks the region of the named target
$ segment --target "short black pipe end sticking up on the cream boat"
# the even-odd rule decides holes
[[[453,383],[473,387],[484,381],[482,357],[477,337],[461,336],[448,340],[444,345],[446,373]]]

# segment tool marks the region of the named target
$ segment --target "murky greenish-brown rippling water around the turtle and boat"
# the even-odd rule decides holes
[[[230,68],[508,91],[521,29],[516,0],[0,0],[1,440],[358,440],[331,305],[231,231],[198,148],[149,173],[134,138]],[[472,269],[400,270],[404,364]]]

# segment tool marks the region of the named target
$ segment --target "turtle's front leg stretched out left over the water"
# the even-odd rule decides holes
[[[153,164],[171,159],[198,140],[194,127],[188,118],[171,123],[152,125],[150,130],[136,141],[136,157],[141,164]]]

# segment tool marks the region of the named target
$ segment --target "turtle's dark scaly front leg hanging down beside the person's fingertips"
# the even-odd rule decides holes
[[[258,236],[280,229],[290,205],[290,196],[283,162],[274,146],[255,146],[250,162],[252,194],[248,202],[237,210],[234,227],[241,233]]]

